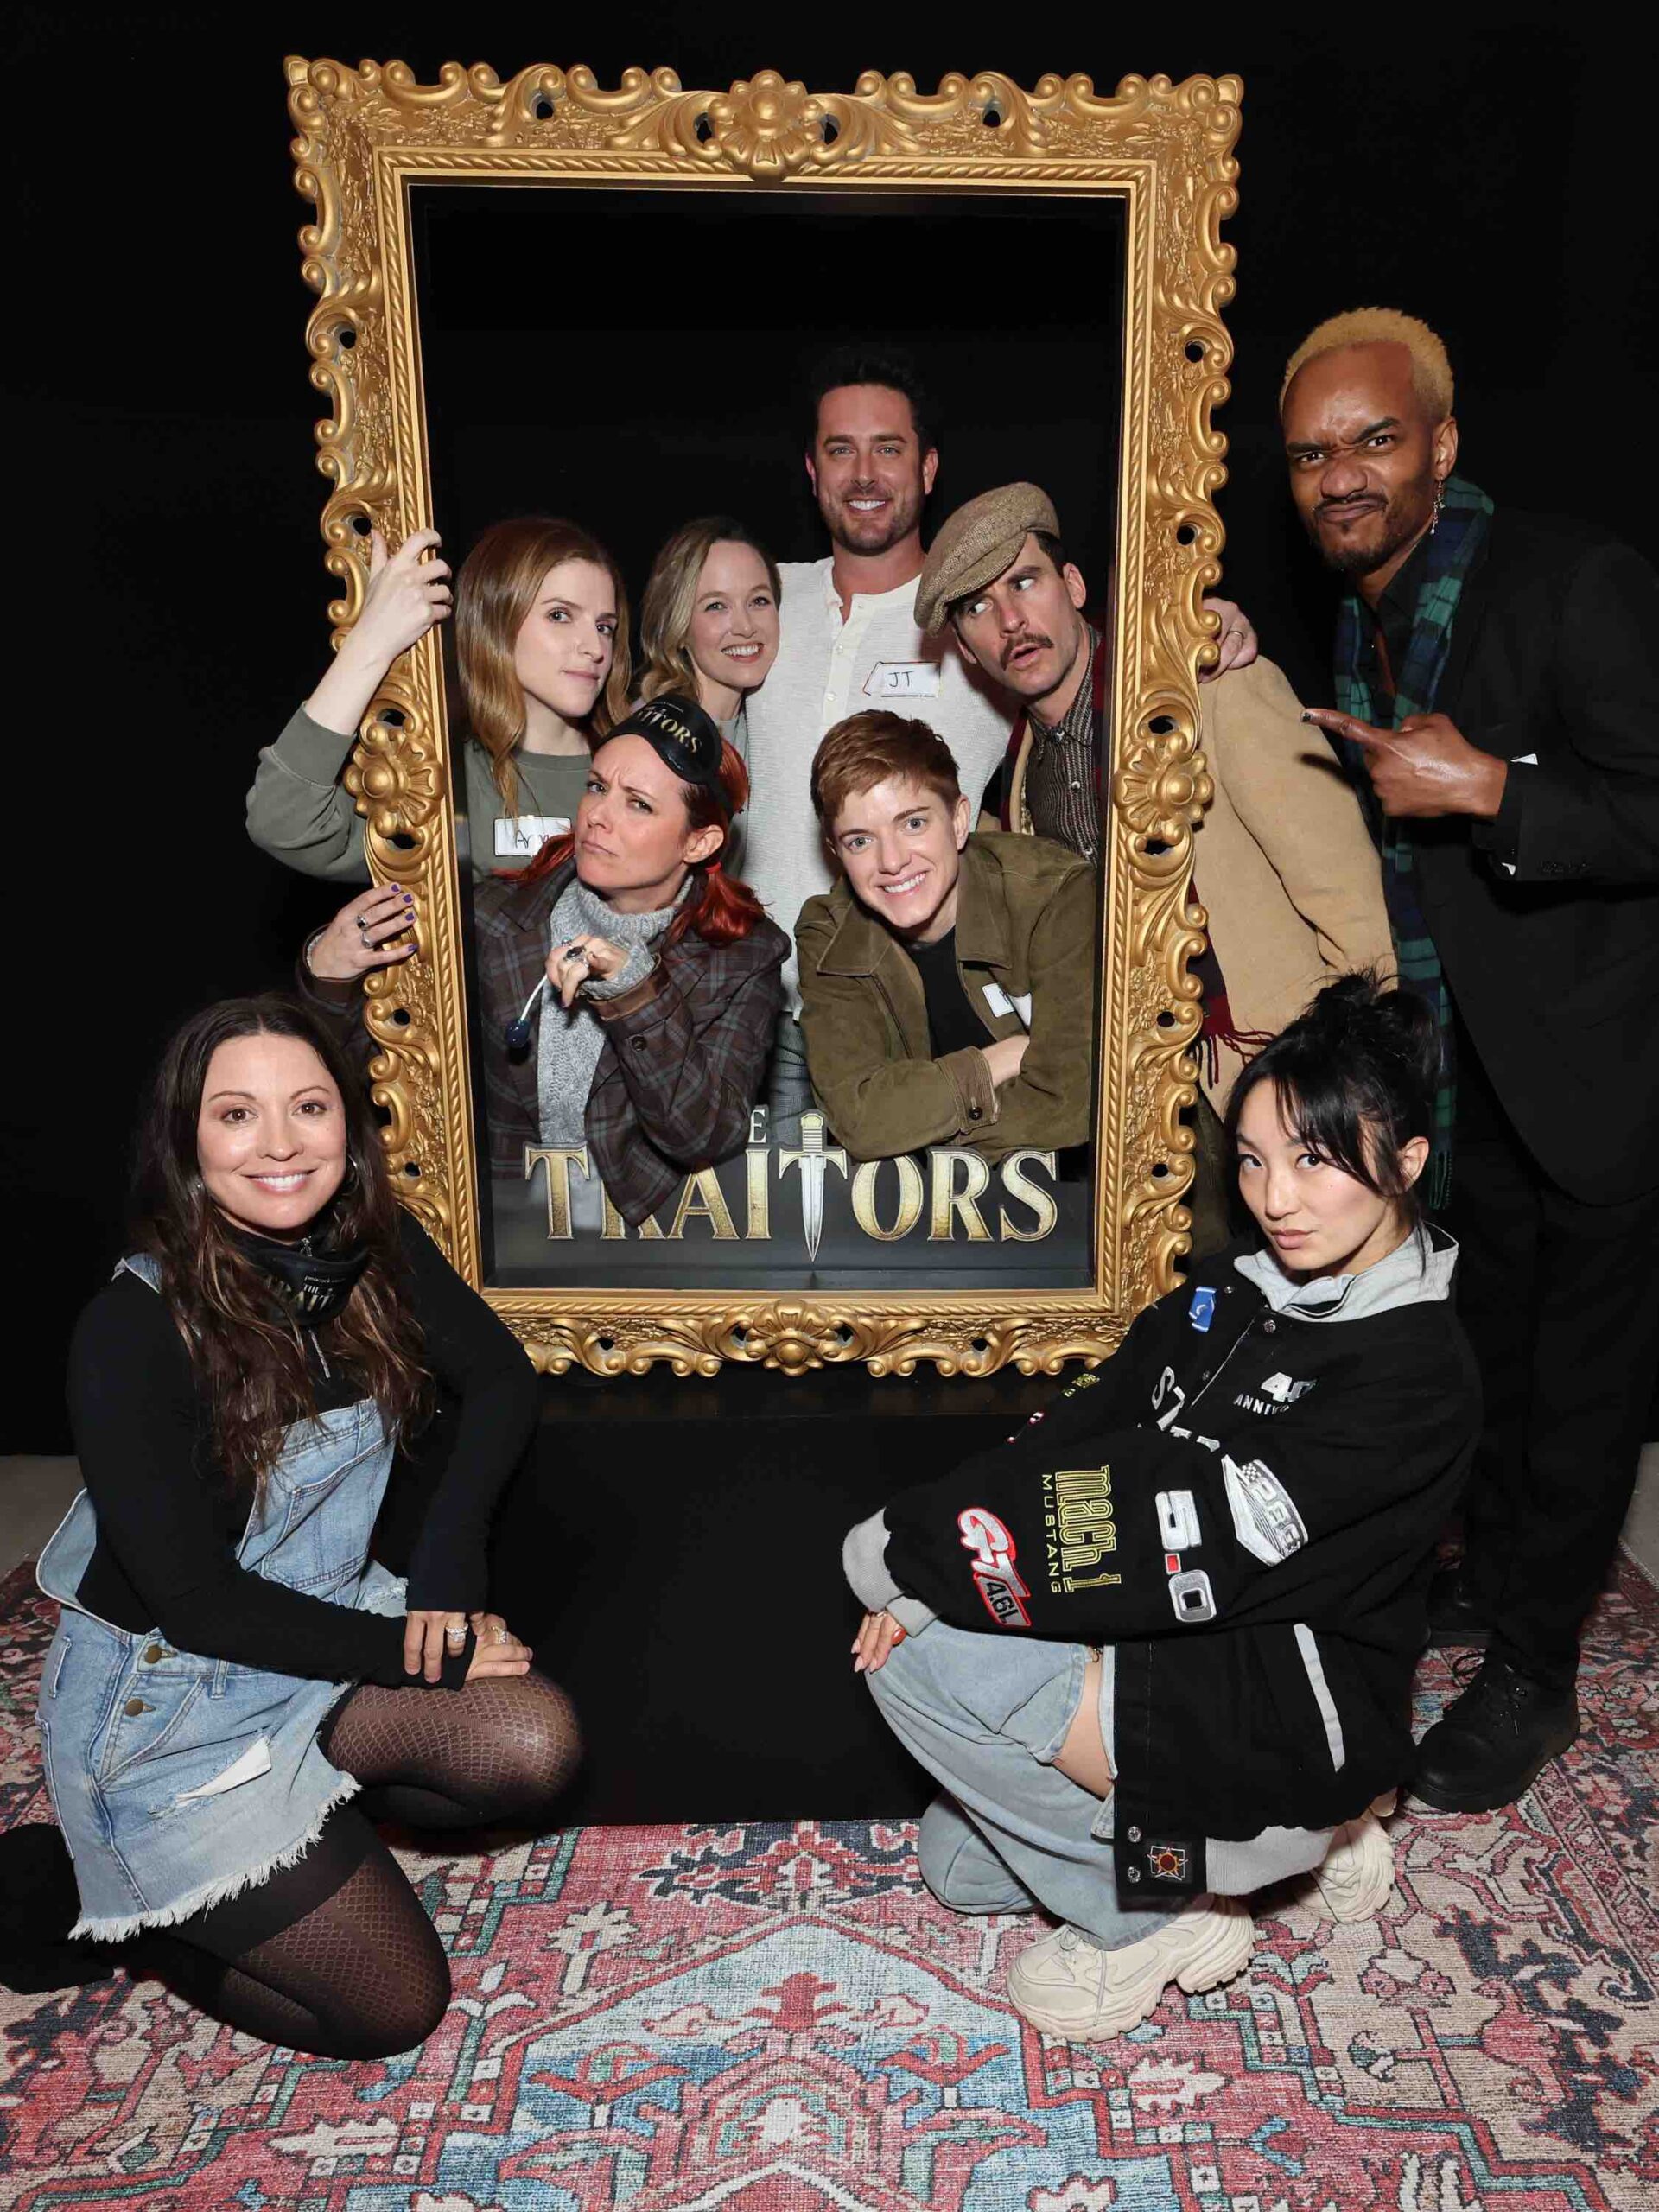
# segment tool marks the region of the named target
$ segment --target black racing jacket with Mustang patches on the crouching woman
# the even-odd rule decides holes
[[[940,1619],[1115,1646],[1119,1893],[1334,1827],[1409,1772],[1429,1566],[1480,1431],[1455,1243],[1296,1285],[1199,1263],[1006,1444],[887,1506]]]

